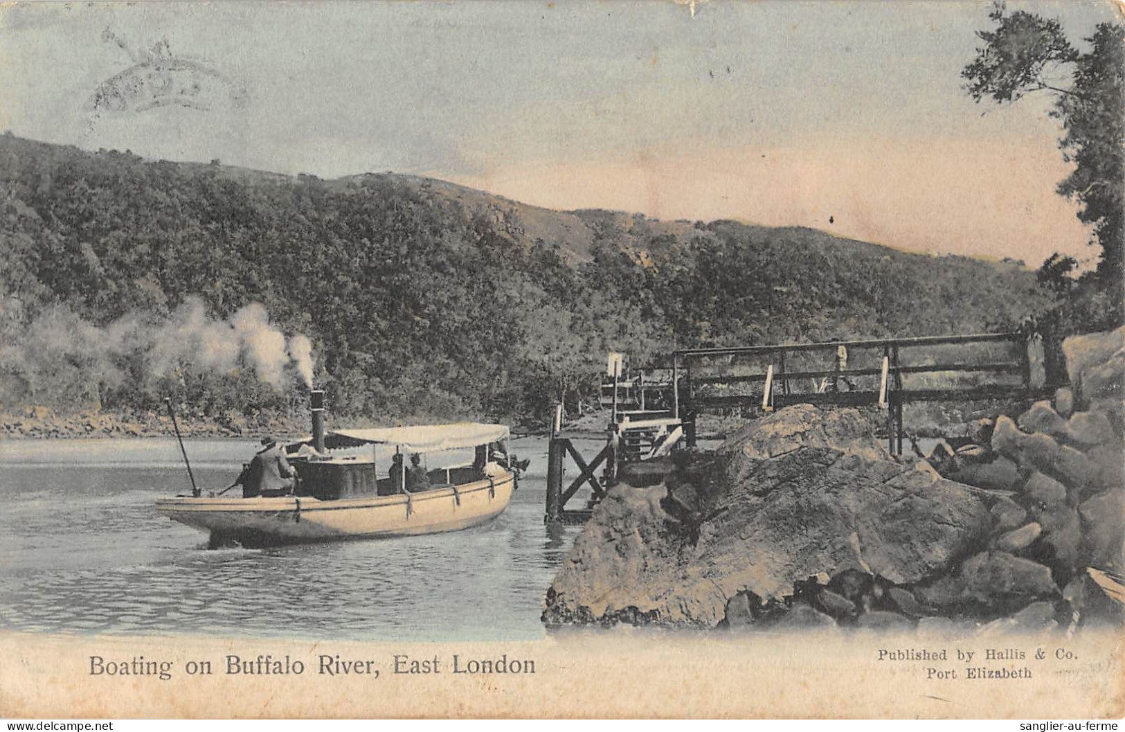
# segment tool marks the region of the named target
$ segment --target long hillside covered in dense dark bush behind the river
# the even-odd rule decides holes
[[[674,346],[1010,329],[1050,304],[1017,262],[549,212],[393,175],[290,178],[4,135],[0,186],[7,409],[164,395],[215,418],[292,409],[297,374],[252,367],[279,345],[253,330],[266,313],[310,338],[336,414],[388,422],[573,411],[610,349],[641,363]]]

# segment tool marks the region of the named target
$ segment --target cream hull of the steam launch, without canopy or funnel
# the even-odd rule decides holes
[[[156,510],[209,532],[212,545],[303,544],[457,532],[496,518],[507,508],[511,473],[420,493],[336,500],[278,498],[165,498]]]

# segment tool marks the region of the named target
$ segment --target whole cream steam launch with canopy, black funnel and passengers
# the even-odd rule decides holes
[[[261,490],[252,474],[262,467],[251,463],[226,489],[242,484],[241,497],[194,488],[192,496],[158,500],[156,510],[209,532],[213,548],[456,532],[507,508],[516,472],[526,466],[508,455],[507,437],[504,425],[468,422],[325,432],[317,391],[313,437],[267,445],[255,456],[274,450],[270,459],[281,457],[273,463],[284,466],[281,475],[295,473],[290,485]],[[470,454],[471,463],[458,462]]]

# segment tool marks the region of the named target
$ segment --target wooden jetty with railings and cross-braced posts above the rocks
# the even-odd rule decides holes
[[[753,417],[802,403],[874,407],[886,412],[890,452],[901,454],[906,404],[1042,399],[1059,376],[1046,373],[1043,340],[1030,331],[694,348],[673,351],[663,361],[663,368],[623,378],[622,358],[611,354],[603,385],[609,389],[603,402],[611,408],[605,432],[564,431],[561,407],[556,409],[548,523],[585,520],[613,484],[620,463],[695,447],[699,413]],[[603,439],[604,447],[586,461],[574,440],[592,438]],[[564,488],[568,456],[578,475]],[[567,508],[584,485],[591,489],[586,506]]]

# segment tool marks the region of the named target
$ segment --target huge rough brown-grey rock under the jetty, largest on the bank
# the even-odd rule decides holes
[[[685,473],[702,494],[694,525],[662,516],[667,486]],[[605,622],[636,608],[663,624],[711,627],[740,591],[782,599],[820,573],[917,583],[979,546],[990,526],[975,491],[889,458],[855,410],[785,408],[665,484],[611,489],[556,575],[543,617]],[[829,586],[860,606],[867,597]]]

